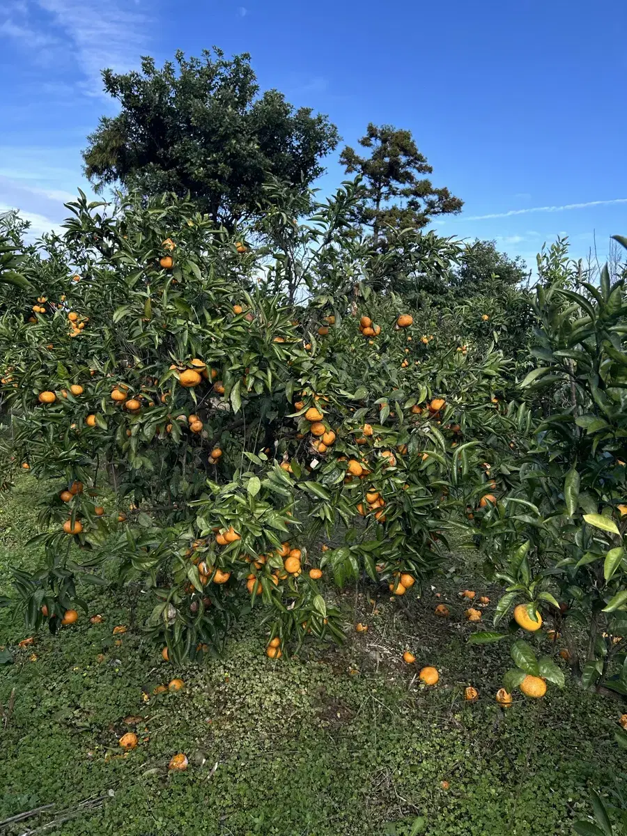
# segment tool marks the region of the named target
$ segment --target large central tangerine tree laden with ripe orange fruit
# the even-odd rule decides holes
[[[455,335],[430,348],[418,312],[375,293],[354,198],[296,233],[283,212],[232,235],[173,196],[110,211],[81,193],[28,254],[0,350],[7,466],[50,486],[44,563],[14,571],[30,626],[57,630],[83,584],[115,579],[154,597],[145,629],[172,659],[252,607],[276,657],[341,640],[335,585],[410,594],[451,512],[489,511],[507,360]]]

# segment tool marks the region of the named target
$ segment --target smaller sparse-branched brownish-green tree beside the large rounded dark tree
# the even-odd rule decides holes
[[[368,125],[359,145],[372,149],[360,157],[347,146],[339,161],[347,173],[364,177],[365,198],[359,222],[372,229],[375,247],[386,237],[386,228],[395,230],[425,227],[430,218],[448,212],[460,212],[463,201],[446,189],[436,189],[421,175],[431,174],[432,167],[418,150],[409,130],[392,125]]]

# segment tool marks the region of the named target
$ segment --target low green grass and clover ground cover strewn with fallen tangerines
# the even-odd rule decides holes
[[[37,533],[38,490],[27,477],[0,496],[5,587],[8,564],[38,559],[25,545]],[[73,818],[44,832],[572,833],[589,788],[619,771],[617,704],[568,683],[563,691],[549,686],[543,701],[519,695],[502,711],[494,694],[509,666],[507,647],[467,645],[474,628],[457,599],[466,586],[492,599],[497,590],[478,579],[472,553],[453,559],[456,574],[436,582],[441,599],[429,590],[400,605],[369,587],[354,612],[351,589],[341,597],[343,649],[308,645],[278,661],[264,655],[258,610],[237,624],[222,658],[184,670],[161,660],[140,626],[115,645],[113,627],[130,624],[127,593],[89,590],[90,614],[104,614],[103,624],[81,614],[79,624],[38,635],[27,650],[17,647],[23,627],[0,610],[0,645],[13,655],[13,664],[0,665],[3,706],[15,690],[5,730],[0,720],[0,823],[54,803],[6,832],[59,821],[67,810]],[[451,619],[433,614],[441,602]],[[354,634],[354,621],[369,632]],[[533,640],[557,657],[558,646],[540,632]],[[415,665],[400,660],[405,648]],[[435,688],[417,682],[426,664],[440,670]],[[153,696],[179,675],[184,691]],[[477,703],[464,703],[466,685],[480,691]],[[140,744],[124,754],[117,740],[129,730]],[[186,772],[167,771],[176,752],[189,757]],[[99,806],[79,808],[85,799]]]

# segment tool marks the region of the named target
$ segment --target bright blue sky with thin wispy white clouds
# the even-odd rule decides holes
[[[87,188],[85,136],[115,112],[99,69],[217,44],[251,53],[262,89],[327,113],[344,143],[369,121],[412,130],[434,183],[466,201],[440,232],[530,265],[558,234],[578,257],[595,236],[604,257],[627,234],[625,24],[624,0],[7,0],[0,211],[43,232]],[[324,191],[343,176],[337,154],[327,165]]]

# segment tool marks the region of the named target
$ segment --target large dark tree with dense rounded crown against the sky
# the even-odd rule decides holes
[[[305,189],[324,171],[337,129],[311,108],[295,110],[278,90],[259,95],[248,54],[219,49],[162,69],[103,72],[120,114],[103,116],[84,150],[85,174],[97,188],[119,183],[145,195],[187,192],[216,222],[232,227],[263,204],[268,176]]]

